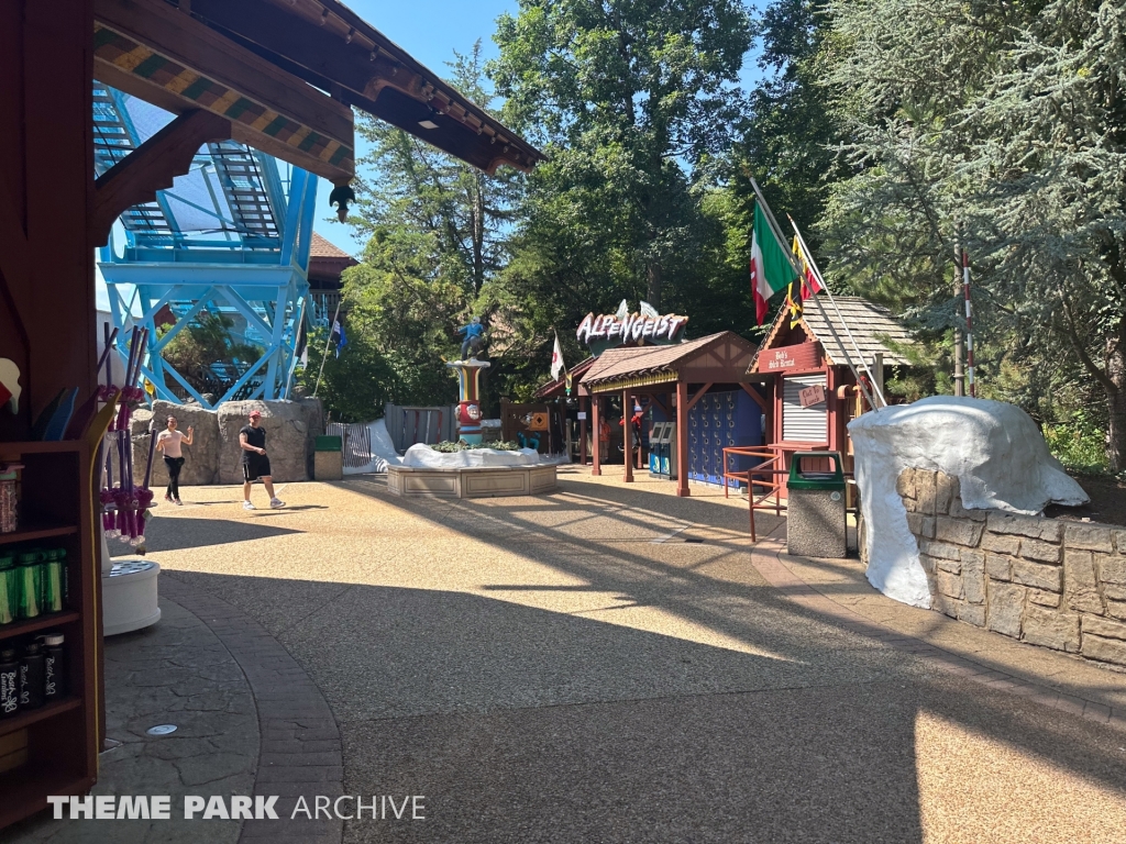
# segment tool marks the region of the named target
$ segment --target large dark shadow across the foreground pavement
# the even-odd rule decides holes
[[[267,628],[300,616],[278,638],[333,709],[346,792],[427,796],[425,824],[346,842],[922,842],[921,715],[1126,781],[1109,728],[835,650],[769,590],[742,653],[459,592],[172,576]]]

